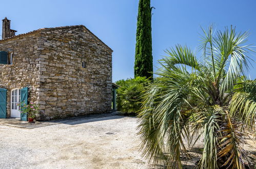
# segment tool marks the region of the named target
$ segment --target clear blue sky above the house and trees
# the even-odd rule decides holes
[[[113,49],[113,81],[133,77],[136,16],[139,0],[2,1],[0,18],[11,20],[17,34],[45,27],[85,25]],[[152,0],[154,70],[165,49],[175,44],[194,49],[200,44],[200,26],[216,29],[236,26],[250,30],[248,43],[256,46],[255,0]],[[1,33],[2,35],[2,33]],[[256,57],[253,56],[256,60]],[[256,64],[249,74],[256,78]]]

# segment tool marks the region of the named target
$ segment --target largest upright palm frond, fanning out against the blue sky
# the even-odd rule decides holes
[[[249,36],[249,32],[236,33],[235,29],[231,27],[224,32],[219,31],[217,37],[214,38],[215,52],[216,52],[216,68],[218,68],[217,84],[221,81],[220,91],[222,93],[231,90],[234,86],[235,80],[245,71],[249,69],[248,56],[250,45],[244,45]],[[225,77],[223,77],[223,73]]]

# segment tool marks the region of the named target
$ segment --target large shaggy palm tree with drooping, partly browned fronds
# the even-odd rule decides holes
[[[204,138],[198,168],[245,168],[244,131],[254,130],[256,80],[249,68],[248,32],[204,30],[200,62],[187,46],[167,50],[159,75],[144,96],[139,113],[143,155],[155,164],[182,168],[185,140]]]

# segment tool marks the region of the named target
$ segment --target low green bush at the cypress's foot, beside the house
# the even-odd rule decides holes
[[[116,81],[121,86],[117,89],[117,110],[124,114],[135,114],[141,109],[142,94],[149,80],[146,77],[135,77]]]

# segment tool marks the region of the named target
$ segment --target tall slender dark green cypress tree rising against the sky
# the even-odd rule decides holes
[[[153,79],[150,0],[140,0],[137,16],[134,77]]]

